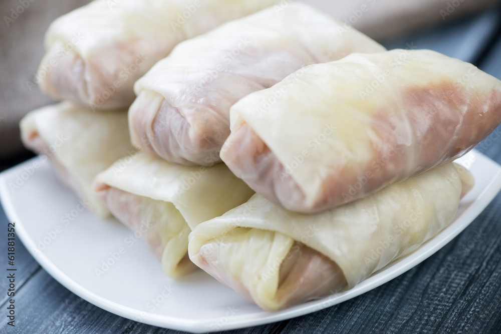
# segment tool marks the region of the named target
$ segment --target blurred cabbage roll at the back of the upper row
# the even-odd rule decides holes
[[[181,41],[277,0],[95,0],[54,21],[37,80],[56,99],[128,107],[134,82]]]

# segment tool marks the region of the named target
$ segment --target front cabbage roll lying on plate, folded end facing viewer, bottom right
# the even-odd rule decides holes
[[[256,194],[189,236],[200,268],[265,310],[351,288],[453,219],[471,174],[452,163],[313,215]]]

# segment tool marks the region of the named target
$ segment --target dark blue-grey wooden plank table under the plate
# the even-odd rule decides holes
[[[36,3],[34,3],[36,4]],[[423,30],[385,44],[428,48],[501,79],[501,10]],[[4,48],[4,46],[2,46]],[[501,164],[501,141],[478,149]],[[0,170],[26,159],[0,163]],[[7,267],[7,223],[0,209],[0,269]],[[54,280],[17,244],[16,327],[7,325],[7,286],[0,278],[1,333],[174,333],[94,306]],[[231,333],[501,332],[501,195],[436,254],[392,281],[327,309]]]

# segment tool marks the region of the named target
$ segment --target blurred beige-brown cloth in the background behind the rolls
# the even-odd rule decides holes
[[[465,13],[480,10],[501,0],[302,1],[322,9],[341,21],[354,22],[355,28],[381,40],[432,24],[449,22]],[[20,6],[18,0],[0,2],[1,160],[23,150],[19,134],[20,119],[29,111],[53,102],[33,84],[33,78],[44,55],[45,31],[57,17],[88,2],[89,0],[45,0],[33,3],[27,1],[29,6],[23,10],[18,8]],[[288,2],[290,0],[283,0],[281,6],[287,6]],[[17,8],[21,14],[13,14]],[[358,12],[359,10],[365,12]],[[6,22],[5,17],[13,21]]]

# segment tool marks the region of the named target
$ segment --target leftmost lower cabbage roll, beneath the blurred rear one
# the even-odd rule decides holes
[[[93,113],[66,101],[26,115],[20,123],[23,144],[52,161],[58,177],[96,214],[110,212],[91,191],[92,180],[117,159],[135,154],[127,111]]]

